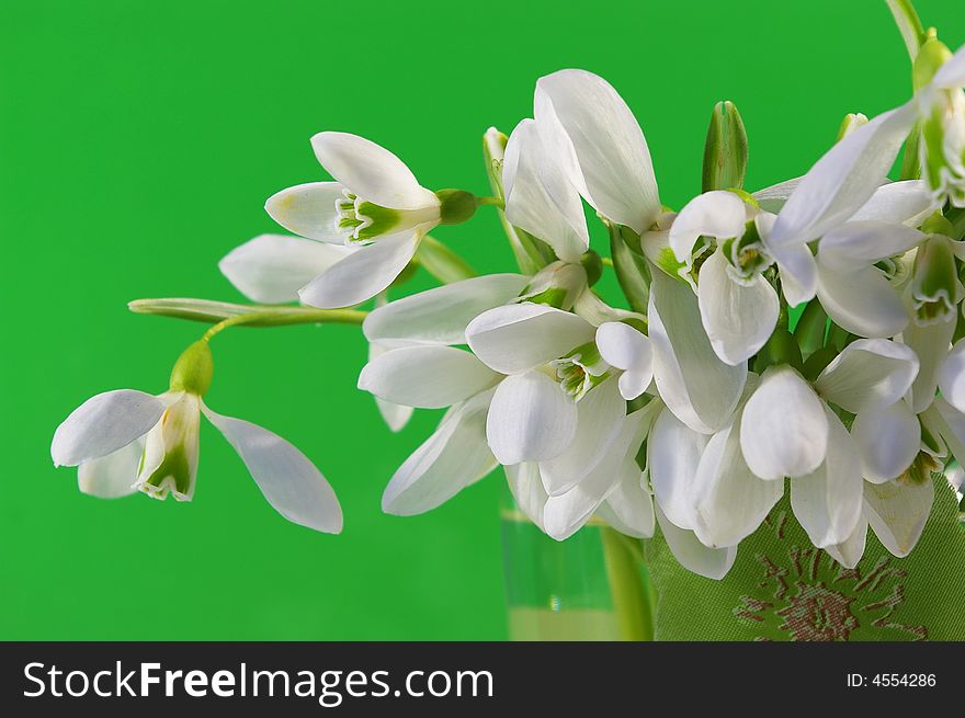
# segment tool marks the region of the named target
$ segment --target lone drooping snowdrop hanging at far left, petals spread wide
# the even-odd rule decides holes
[[[288,521],[316,531],[342,529],[338,499],[325,477],[285,440],[240,419],[212,411],[202,397],[212,376],[203,341],[179,358],[170,390],[133,389],[88,399],[57,428],[56,466],[78,466],[80,490],[101,498],[135,490],[155,499],[191,501],[197,474],[203,413],[238,452],[268,502]]]

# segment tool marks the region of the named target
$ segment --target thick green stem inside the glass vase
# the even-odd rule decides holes
[[[613,528],[603,526],[600,535],[620,638],[625,641],[654,640],[651,604],[640,577],[640,557]]]

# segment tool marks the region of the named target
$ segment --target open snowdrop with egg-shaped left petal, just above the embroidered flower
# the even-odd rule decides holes
[[[918,368],[902,344],[858,340],[813,385],[788,366],[773,366],[748,399],[740,425],[747,466],[763,480],[792,479],[792,509],[818,548],[854,531],[862,476],[885,482],[918,455],[920,424],[900,400]],[[855,415],[851,433],[831,406]]]

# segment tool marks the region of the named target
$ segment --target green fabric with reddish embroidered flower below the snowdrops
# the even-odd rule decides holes
[[[646,542],[658,595],[656,639],[963,640],[965,528],[956,504],[939,476],[931,516],[910,556],[895,558],[869,532],[852,570],[811,546],[786,494],[741,542],[720,581],[682,568],[658,532]]]

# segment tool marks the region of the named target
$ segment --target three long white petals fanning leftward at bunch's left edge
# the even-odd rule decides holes
[[[390,351],[370,360],[360,387],[398,406],[453,403],[433,435],[389,481],[383,498],[386,512],[413,514],[434,509],[497,465],[486,420],[495,394],[491,387],[506,375],[455,346],[468,343],[467,326],[489,309],[508,303],[518,304],[519,295],[532,294],[530,289],[554,295],[558,290],[563,297],[577,290],[569,286],[568,273],[563,273],[567,281],[560,285],[556,269],[547,267],[547,272],[538,282],[519,274],[465,280],[398,299],[368,315],[363,324],[366,338]],[[592,328],[587,327],[584,334],[592,337]],[[566,400],[559,386],[552,380],[550,385],[554,398]],[[463,461],[463,455],[478,460]]]

